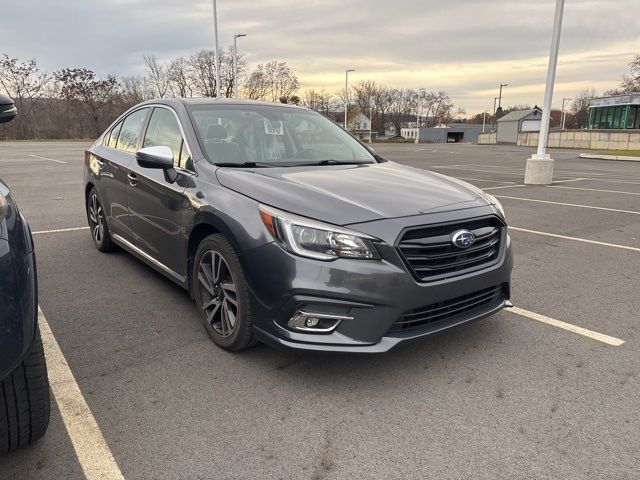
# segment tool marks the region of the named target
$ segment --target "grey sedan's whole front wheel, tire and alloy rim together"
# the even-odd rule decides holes
[[[238,256],[220,234],[205,238],[193,262],[192,288],[205,328],[216,345],[242,350],[253,341],[247,282]]]

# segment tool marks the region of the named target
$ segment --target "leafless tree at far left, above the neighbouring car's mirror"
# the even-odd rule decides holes
[[[33,122],[40,100],[48,93],[51,77],[38,68],[35,59],[21,62],[2,55],[0,58],[0,86],[16,102],[20,115],[12,125],[18,138],[37,135]]]

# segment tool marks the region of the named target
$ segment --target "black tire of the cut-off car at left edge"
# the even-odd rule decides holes
[[[38,330],[25,359],[0,382],[0,455],[41,438],[49,414],[49,380]]]

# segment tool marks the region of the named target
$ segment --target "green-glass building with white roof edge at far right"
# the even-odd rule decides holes
[[[640,129],[640,94],[592,99],[589,105],[589,128],[592,130]]]

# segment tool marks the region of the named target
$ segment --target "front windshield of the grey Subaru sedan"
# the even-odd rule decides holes
[[[351,135],[310,110],[194,105],[190,113],[211,163],[275,167],[376,162]]]

